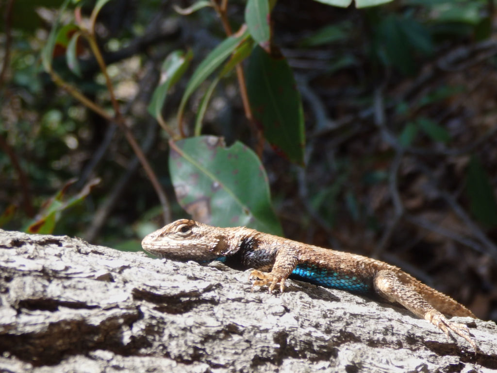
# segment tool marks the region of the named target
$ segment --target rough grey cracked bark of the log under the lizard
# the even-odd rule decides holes
[[[490,372],[481,351],[407,310],[299,281],[0,230],[0,372]]]

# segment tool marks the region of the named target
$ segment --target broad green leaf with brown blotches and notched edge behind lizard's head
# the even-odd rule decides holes
[[[169,171],[176,198],[195,220],[282,235],[266,172],[252,150],[238,141],[226,148],[224,140],[215,136],[170,144]]]

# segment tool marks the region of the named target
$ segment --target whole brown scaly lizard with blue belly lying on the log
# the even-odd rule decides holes
[[[349,292],[379,295],[400,303],[414,315],[444,332],[461,336],[477,352],[468,327],[449,321],[448,316],[476,316],[458,303],[400,268],[365,256],[325,249],[246,227],[220,228],[194,220],[176,220],[147,235],[145,251],[156,256],[199,263],[222,261],[230,267],[253,269],[249,280],[268,286],[270,293],[292,276],[317,285]]]

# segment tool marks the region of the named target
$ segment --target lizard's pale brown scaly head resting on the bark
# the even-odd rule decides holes
[[[162,258],[210,262],[225,257],[229,249],[222,229],[180,219],[145,236],[142,247]]]

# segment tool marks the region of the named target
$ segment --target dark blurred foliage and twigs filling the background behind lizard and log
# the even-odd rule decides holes
[[[281,223],[497,319],[495,4],[350,2],[1,2],[0,226]]]

